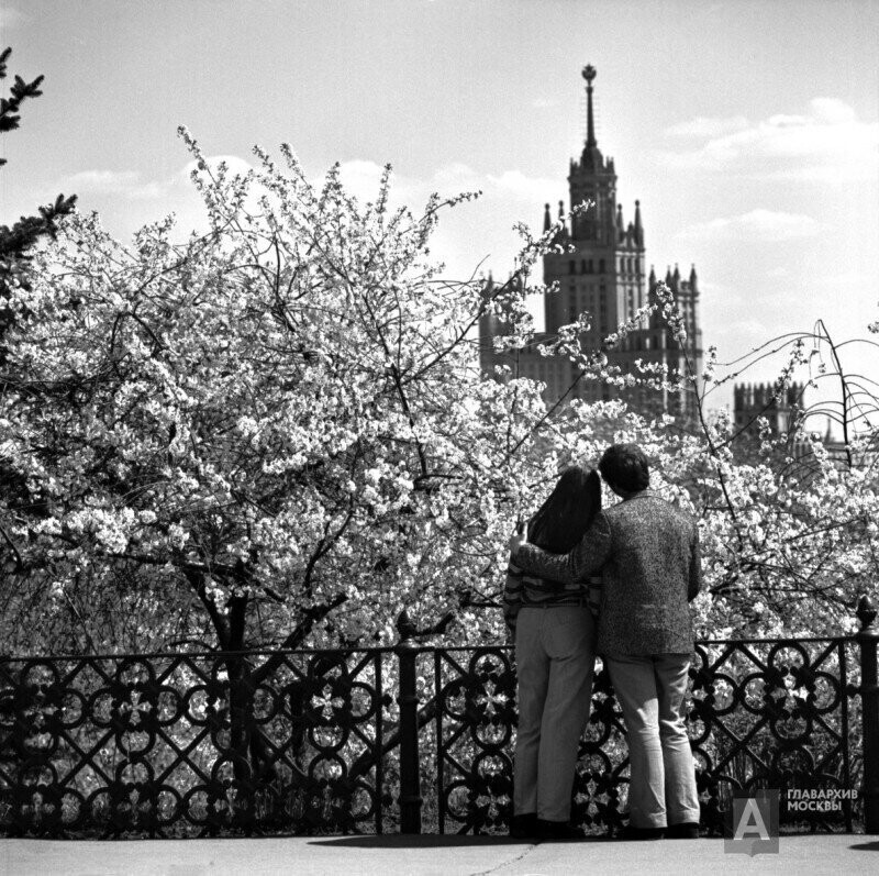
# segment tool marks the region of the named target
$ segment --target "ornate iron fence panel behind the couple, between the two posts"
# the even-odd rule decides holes
[[[690,674],[688,727],[703,827],[722,833],[738,789],[853,787],[847,647],[844,639],[700,643]],[[439,831],[504,832],[515,720],[511,655],[479,648],[437,650],[432,656],[439,691]],[[622,713],[602,668],[580,743],[572,821],[588,833],[620,830],[627,768]],[[839,798],[838,809],[812,818],[782,811],[782,823],[852,830],[852,801]]]

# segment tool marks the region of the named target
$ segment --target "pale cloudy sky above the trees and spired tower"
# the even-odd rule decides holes
[[[879,0],[0,0],[0,43],[45,75],[0,144],[0,223],[63,191],[120,236],[203,224],[186,124],[233,168],[283,142],[318,181],[341,162],[365,199],[386,163],[413,208],[479,189],[433,253],[505,277],[513,224],[567,199],[592,64],[625,221],[639,199],[659,275],[696,265],[721,362],[879,320]],[[869,346],[844,363],[879,379]]]

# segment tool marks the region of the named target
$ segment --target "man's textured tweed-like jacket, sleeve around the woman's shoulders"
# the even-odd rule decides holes
[[[702,585],[699,531],[689,514],[653,490],[602,511],[569,554],[525,544],[515,562],[527,573],[568,584],[601,569],[599,653],[692,652],[688,602]]]

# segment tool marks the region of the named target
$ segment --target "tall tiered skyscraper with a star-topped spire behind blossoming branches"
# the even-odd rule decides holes
[[[513,376],[531,377],[546,384],[544,397],[554,402],[560,398],[581,398],[598,401],[625,398],[632,407],[644,413],[666,411],[685,419],[694,413],[694,397],[687,386],[680,392],[659,392],[639,388],[620,390],[614,386],[583,376],[567,358],[542,356],[541,343],[552,342],[558,328],[575,322],[587,311],[591,326],[581,335],[587,351],[604,352],[611,367],[622,374],[637,376],[635,362],[661,363],[671,370],[686,372],[689,359],[692,373],[701,374],[702,342],[699,328],[699,285],[696,268],[683,279],[675,266],[669,268],[665,282],[675,295],[687,331],[682,347],[671,336],[659,313],[628,334],[617,346],[609,346],[605,339],[616,326],[628,320],[653,295],[657,277],[650,268],[645,270],[644,224],[641,202],[635,201],[634,217],[626,222],[623,207],[616,201],[616,169],[613,158],[605,158],[596,138],[592,111],[592,91],[596,68],[587,66],[586,79],[587,124],[586,143],[579,158],[572,158],[568,171],[570,204],[588,201],[591,206],[575,218],[572,226],[564,225],[557,243],[565,252],[543,258],[544,282],[558,284],[558,291],[547,295],[544,301],[545,331],[525,350],[497,354],[491,339],[502,334],[503,323],[485,318],[480,324],[480,358],[483,372],[494,375],[494,366],[509,365]],[[559,218],[565,215],[565,204],[559,202]],[[550,207],[546,204],[544,230],[553,224]],[[491,284],[491,280],[489,280]],[[488,287],[490,291],[491,287]]]

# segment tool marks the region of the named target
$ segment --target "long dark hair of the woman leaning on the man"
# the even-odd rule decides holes
[[[528,523],[528,542],[553,554],[567,554],[580,542],[601,510],[598,472],[568,468]]]

